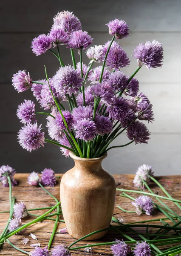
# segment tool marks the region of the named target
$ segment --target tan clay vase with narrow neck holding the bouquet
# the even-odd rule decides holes
[[[76,239],[107,228],[113,215],[116,183],[109,172],[102,168],[107,157],[85,159],[76,157],[75,166],[66,172],[60,183],[60,200],[68,233]],[[85,240],[99,239],[105,232],[96,233]]]

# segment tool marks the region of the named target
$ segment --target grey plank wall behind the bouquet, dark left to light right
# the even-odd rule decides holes
[[[147,70],[143,67],[136,78],[140,90],[153,103],[155,122],[149,124],[152,133],[148,145],[129,145],[110,151],[104,167],[112,173],[134,173],[143,163],[153,165],[157,175],[180,174],[181,164],[181,1],[180,0],[10,0],[0,3],[0,166],[9,164],[17,172],[41,172],[45,167],[65,172],[73,161],[61,155],[59,148],[45,144],[32,153],[17,142],[21,124],[16,117],[18,105],[33,99],[31,90],[17,93],[11,77],[18,70],[30,72],[33,80],[44,79],[44,65],[51,77],[59,63],[51,52],[36,57],[31,41],[51,28],[54,15],[63,10],[73,11],[82,22],[82,29],[94,38],[93,44],[110,40],[109,20],[119,18],[130,26],[130,36],[119,43],[129,54],[131,64],[124,72],[136,69],[131,57],[140,42],[156,39],[164,44],[164,66]],[[70,50],[61,48],[63,61],[71,63]],[[78,59],[77,59],[78,60]],[[85,61],[85,55],[83,61]],[[86,62],[86,61],[85,61]],[[45,127],[45,118],[38,123]],[[125,134],[116,140],[124,144]]]

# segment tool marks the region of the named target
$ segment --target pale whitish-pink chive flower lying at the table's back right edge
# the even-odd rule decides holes
[[[150,182],[150,176],[153,177],[153,168],[152,166],[149,166],[147,164],[143,164],[142,166],[139,166],[136,175],[134,177],[133,183],[136,187],[139,187],[141,189],[144,189],[144,183],[142,180],[144,180],[146,183]]]

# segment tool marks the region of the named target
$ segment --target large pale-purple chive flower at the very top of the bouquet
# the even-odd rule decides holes
[[[68,34],[71,34],[76,30],[82,29],[80,20],[72,12],[69,11],[59,12],[54,17],[53,28],[56,27],[60,27]]]

